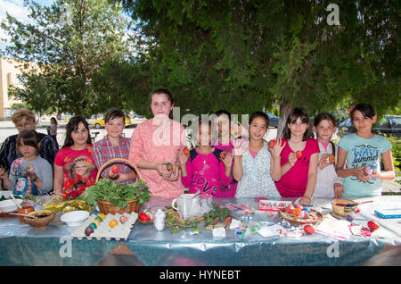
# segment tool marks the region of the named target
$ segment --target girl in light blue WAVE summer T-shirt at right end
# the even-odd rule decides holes
[[[391,143],[372,133],[372,125],[377,121],[372,105],[356,104],[350,116],[356,133],[340,140],[336,166],[337,174],[345,178],[344,196],[381,196],[382,180],[396,176]],[[344,169],[346,160],[348,168]]]

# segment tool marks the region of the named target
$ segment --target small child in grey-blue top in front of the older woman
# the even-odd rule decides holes
[[[42,196],[52,190],[52,166],[38,156],[40,140],[35,130],[22,130],[17,137],[17,152],[20,158],[12,162],[10,175],[0,173],[4,186],[16,195]]]

